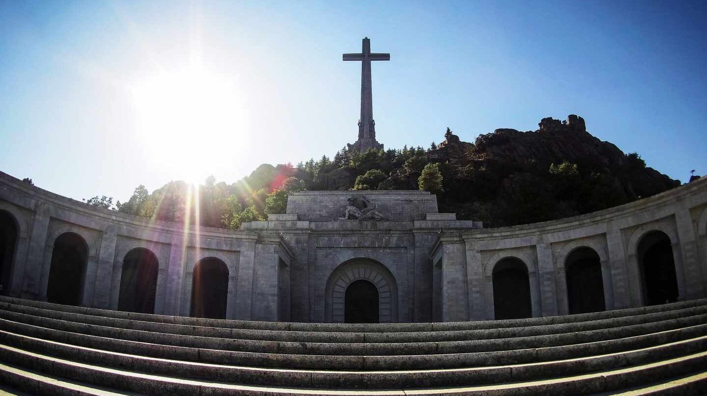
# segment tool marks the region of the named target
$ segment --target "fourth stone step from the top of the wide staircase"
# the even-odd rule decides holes
[[[707,315],[697,318],[696,323],[707,322]],[[254,352],[234,352],[219,349],[169,346],[98,337],[75,332],[65,332],[25,323],[0,319],[0,330],[42,340],[63,342],[80,347],[103,349],[110,352],[139,354],[153,358],[179,359],[215,364],[238,364],[277,368],[319,368],[339,370],[404,370],[424,368],[460,368],[469,366],[492,366],[518,364],[537,361],[570,359],[640,349],[658,344],[707,335],[707,323],[662,332],[649,333],[614,340],[602,340],[582,344],[568,344],[556,347],[513,349],[453,354],[428,354],[401,356],[331,356],[304,354],[269,354]],[[0,332],[0,341],[5,338]],[[3,341],[11,344],[10,341]]]

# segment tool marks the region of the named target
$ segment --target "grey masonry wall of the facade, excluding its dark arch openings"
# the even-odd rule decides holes
[[[435,196],[416,191],[355,192],[389,218],[334,220],[352,193],[298,193],[289,215],[238,231],[185,231],[0,174],[0,211],[16,228],[13,257],[3,263],[10,266],[3,293],[47,299],[54,248],[69,233],[86,247],[76,301],[83,306],[116,309],[124,259],[141,248],[158,261],[153,312],[165,315],[191,313],[194,270],[214,259],[228,277],[226,318],[333,320],[332,301],[341,296],[327,285],[360,278],[385,296],[385,320],[493,319],[494,268],[512,259],[527,276],[532,316],[552,316],[571,311],[567,266],[580,249],[600,263],[605,308],[649,304],[640,250],[658,233],[671,249],[677,299],[707,295],[707,178],[617,208],[497,229],[440,214]]]

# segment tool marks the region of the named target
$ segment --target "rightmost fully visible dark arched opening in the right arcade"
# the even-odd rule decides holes
[[[636,252],[641,270],[645,305],[677,301],[677,275],[670,237],[662,231],[648,232]]]

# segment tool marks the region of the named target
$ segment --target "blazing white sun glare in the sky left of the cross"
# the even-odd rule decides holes
[[[141,145],[175,179],[201,183],[228,166],[237,145],[247,147],[247,112],[228,78],[201,69],[163,72],[131,91]]]

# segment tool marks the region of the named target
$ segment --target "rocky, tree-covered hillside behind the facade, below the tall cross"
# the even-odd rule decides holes
[[[302,190],[433,191],[440,212],[481,220],[484,227],[541,222],[593,212],[652,196],[679,185],[585,130],[581,117],[546,118],[537,131],[497,129],[463,142],[448,128],[428,148],[358,152],[291,164],[262,164],[232,184],[213,176],[198,189],[170,181],[149,193],[135,189],[125,203],[90,198],[87,203],[158,220],[197,221],[238,228],[286,208],[288,193]],[[198,196],[197,196],[198,194]]]

